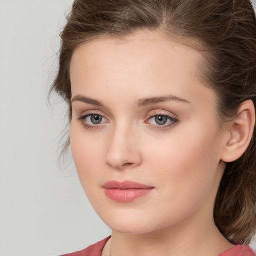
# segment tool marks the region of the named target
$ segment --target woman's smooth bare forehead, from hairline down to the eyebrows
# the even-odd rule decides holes
[[[201,59],[199,51],[157,32],[137,32],[123,40],[95,39],[73,53],[72,96],[96,95],[101,99],[111,93],[137,100],[173,94],[204,100],[205,93],[212,97],[213,92],[198,77]]]

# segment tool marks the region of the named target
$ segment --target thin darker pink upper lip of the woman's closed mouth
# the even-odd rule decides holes
[[[152,186],[144,185],[135,181],[125,180],[122,182],[110,180],[103,184],[103,188],[109,189],[149,189]]]

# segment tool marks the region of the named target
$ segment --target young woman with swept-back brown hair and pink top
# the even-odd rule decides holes
[[[75,0],[52,90],[111,237],[67,255],[252,256],[249,0]]]

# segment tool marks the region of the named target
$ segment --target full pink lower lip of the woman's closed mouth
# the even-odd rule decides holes
[[[139,197],[145,196],[152,191],[148,189],[114,189],[104,188],[105,195],[116,202],[132,202]]]

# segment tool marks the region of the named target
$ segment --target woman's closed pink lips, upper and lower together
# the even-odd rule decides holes
[[[103,184],[105,195],[116,202],[131,202],[149,194],[154,187],[126,180],[111,180]]]

